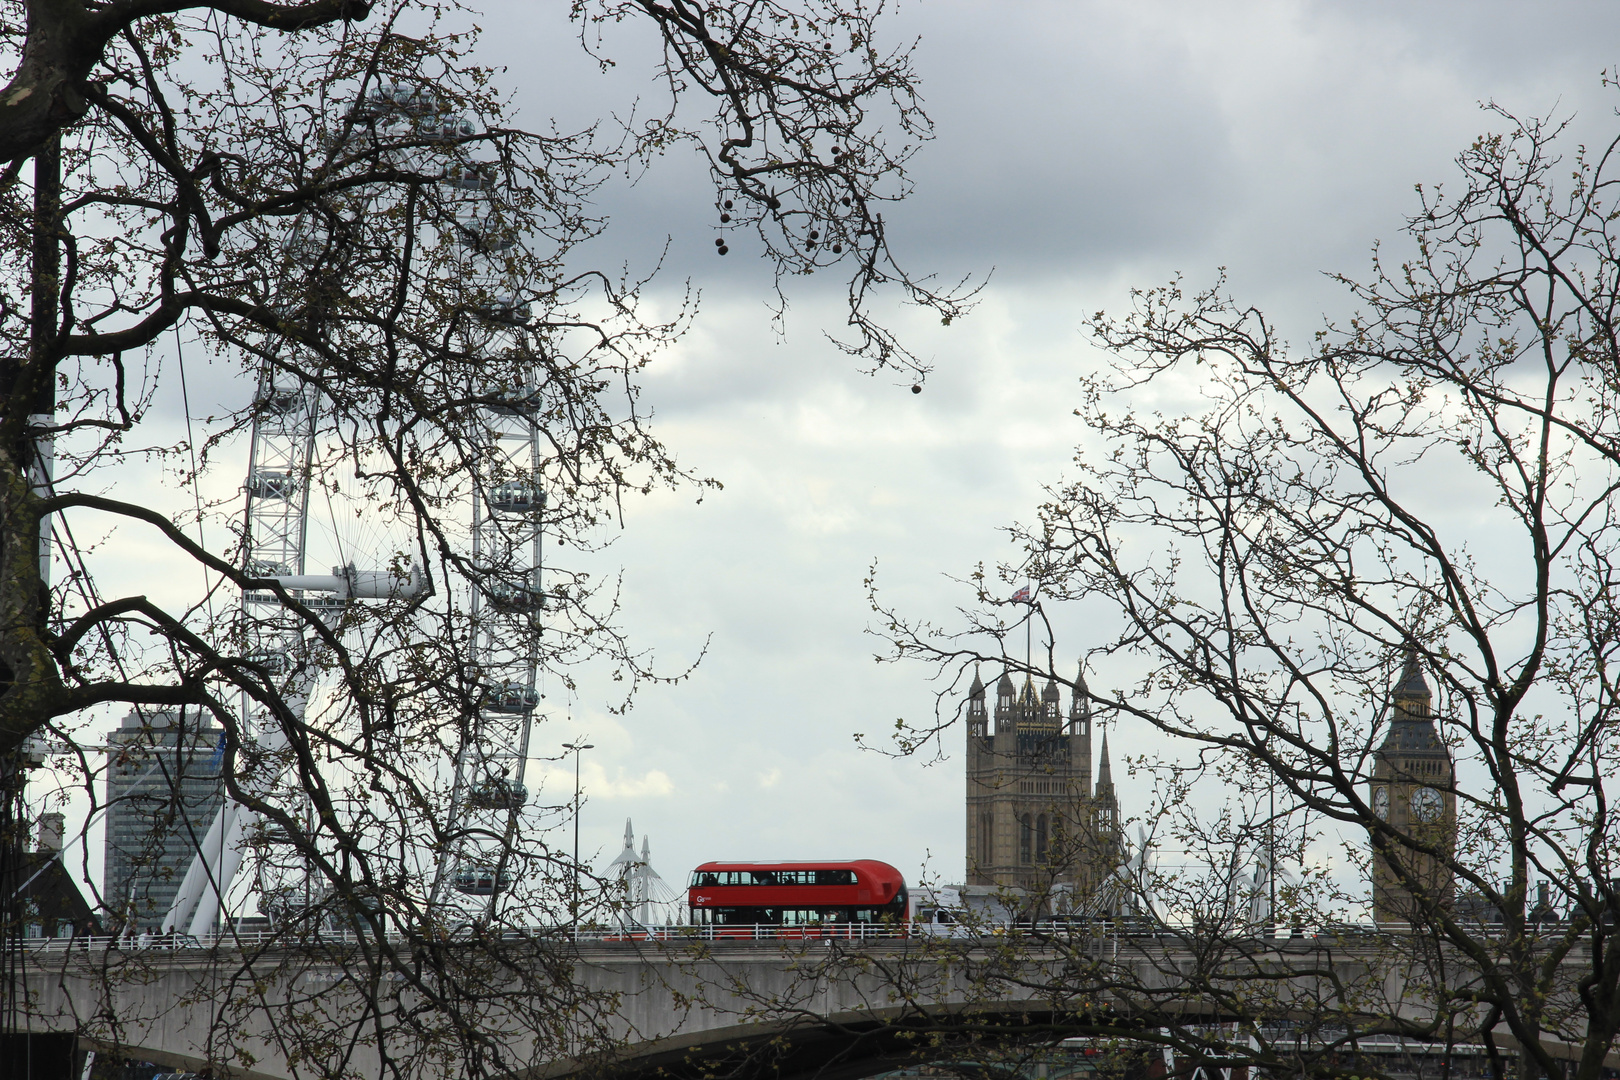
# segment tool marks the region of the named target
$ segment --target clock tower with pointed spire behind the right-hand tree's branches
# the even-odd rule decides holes
[[[1432,695],[1416,653],[1406,654],[1392,698],[1390,732],[1372,766],[1372,810],[1398,832],[1452,853],[1456,848],[1455,771],[1434,725]],[[1388,850],[1408,874],[1403,879],[1374,844],[1374,920],[1411,923],[1426,902],[1450,907],[1456,879],[1442,860],[1398,842]]]

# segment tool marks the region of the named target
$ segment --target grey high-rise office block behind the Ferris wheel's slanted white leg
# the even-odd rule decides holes
[[[136,709],[107,738],[102,902],[113,926],[162,925],[224,803],[222,730],[196,712]]]

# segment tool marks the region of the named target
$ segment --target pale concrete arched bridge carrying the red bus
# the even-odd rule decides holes
[[[426,996],[413,986],[408,957],[368,962],[379,942],[173,944],[39,942],[24,954],[23,1023],[31,1031],[73,1033],[84,1049],[240,1080],[324,1070],[381,1077],[386,1064],[407,1074],[450,1074],[436,1067],[434,1054],[442,1054],[444,1035],[457,1033],[441,1031],[437,1043],[428,1038],[431,1017],[413,1014]],[[455,960],[462,946],[434,947]],[[478,954],[481,960],[467,952],[468,963],[488,963],[488,952]],[[1243,952],[1228,960],[1233,986],[1244,970],[1267,972],[1265,993],[1281,989],[1304,1010],[1413,1017],[1422,1010],[1426,994],[1413,991],[1422,976],[1390,962],[1388,938],[1257,939]],[[1147,997],[1160,1015],[1168,1007],[1187,1018],[1221,1020],[1210,999],[1184,991],[1205,960],[1168,934],[1069,941],[606,934],[517,939],[505,959],[471,980],[462,973],[463,984],[486,986],[488,999],[468,1001],[476,1031],[460,1035],[480,1043],[488,1072],[517,1080],[609,1072],[627,1080],[679,1078],[765,1062],[789,1080],[810,1074],[854,1080],[949,1057],[966,1044],[1050,1038],[1053,1025],[1076,1014],[1116,1017],[1129,1027]],[[525,978],[531,989],[514,993]],[[548,986],[577,988],[591,1004],[559,1020]],[[1081,986],[1095,989],[1079,996]]]

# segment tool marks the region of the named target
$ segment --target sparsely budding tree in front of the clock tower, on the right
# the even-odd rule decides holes
[[[1092,319],[1115,359],[1081,381],[1087,440],[1011,529],[1021,557],[966,580],[961,625],[873,594],[888,657],[948,683],[902,751],[954,724],[972,664],[1069,685],[1066,606],[1098,633],[1098,717],[1166,737],[1134,763],[1140,821],[1186,852],[1144,881],[1136,929],[1165,947],[1042,944],[1063,975],[1016,978],[1068,1002],[1051,1038],[1288,1075],[1383,1074],[1375,1036],[1497,1077],[1604,1069],[1620,142],[1492,115],[1505,133],[1456,189],[1419,188],[1400,254],[1338,277],[1348,314],[1302,345],[1225,283]],[[1006,601],[1025,581],[1035,602]]]

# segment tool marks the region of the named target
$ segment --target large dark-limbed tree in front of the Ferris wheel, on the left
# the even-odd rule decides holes
[[[928,120],[909,49],[880,44],[872,10],[590,0],[572,15],[604,65],[638,34],[661,40],[663,112],[517,126],[447,3],[0,8],[0,751],[13,795],[26,755],[49,751],[63,797],[99,814],[104,772],[224,732],[207,767],[249,823],[243,873],[280,900],[271,938],[220,960],[240,993],[194,1004],[219,1033],[199,1069],[262,1052],[235,1040],[271,1020],[280,1052],[321,1075],[483,1075],[611,1038],[609,1002],[543,929],[578,873],[546,840],[569,808],[525,808],[522,767],[480,771],[523,755],[481,725],[538,696],[533,675],[481,670],[489,641],[564,685],[588,657],[632,690],[651,675],[611,583],[567,554],[627,495],[710,483],[648,427],[637,384],[690,303],[653,317],[648,279],[582,251],[611,227],[591,207],[604,176],[703,154],[718,254],[752,236],[779,291],[844,274],[857,363],[922,371],[883,298],[946,319],[969,301],[889,253],[881,207],[904,198]],[[175,381],[185,397],[188,358],[243,389],[220,416],[188,400],[177,434],[154,400]],[[502,426],[526,432],[526,457],[496,453]],[[204,479],[238,474],[271,431],[288,463],[256,461],[245,494],[209,499]],[[143,455],[194,495],[188,512],[112,486]],[[322,593],[254,554],[264,520],[241,523],[245,497],[324,504],[371,533]],[[126,588],[110,529],[190,560],[207,589]],[[564,557],[543,565],[541,538]],[[75,721],[94,706],[133,709],[110,756]],[[151,813],[154,850],[175,831],[207,844],[183,774]],[[8,836],[19,845],[21,824]],[[468,850],[486,863],[463,873]],[[115,931],[164,915],[100,899]],[[288,942],[337,984],[269,993],[301,978]],[[83,1033],[117,1046],[123,1020]]]

